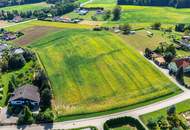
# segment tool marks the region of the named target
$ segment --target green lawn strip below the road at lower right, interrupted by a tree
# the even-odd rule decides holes
[[[186,100],[186,101],[183,101],[183,102],[176,104],[175,105],[176,106],[176,112],[181,113],[181,112],[189,111],[190,110],[189,104],[190,104],[190,100]],[[168,107],[161,109],[161,110],[158,110],[158,111],[155,111],[155,112],[151,112],[151,113],[142,115],[142,116],[140,116],[140,119],[143,121],[144,124],[147,124],[148,120],[150,120],[150,119],[153,119],[153,120],[158,119],[161,116],[166,117],[167,116],[167,109],[168,109]]]

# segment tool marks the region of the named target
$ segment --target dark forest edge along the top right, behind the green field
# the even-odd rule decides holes
[[[118,4],[145,6],[173,6],[176,8],[190,7],[189,0],[118,0]]]

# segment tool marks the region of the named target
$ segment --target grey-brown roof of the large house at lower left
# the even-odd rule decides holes
[[[19,87],[14,91],[13,96],[9,101],[17,100],[20,98],[40,102],[38,87],[29,84]]]

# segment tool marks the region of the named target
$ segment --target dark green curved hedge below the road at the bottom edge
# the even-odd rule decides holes
[[[123,125],[130,125],[132,127],[136,127],[137,130],[146,130],[137,119],[128,116],[107,120],[104,123],[104,130],[121,127]]]

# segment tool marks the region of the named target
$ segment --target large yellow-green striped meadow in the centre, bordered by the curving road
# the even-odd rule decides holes
[[[110,32],[64,29],[29,45],[50,79],[58,115],[127,107],[175,95],[177,86]]]

